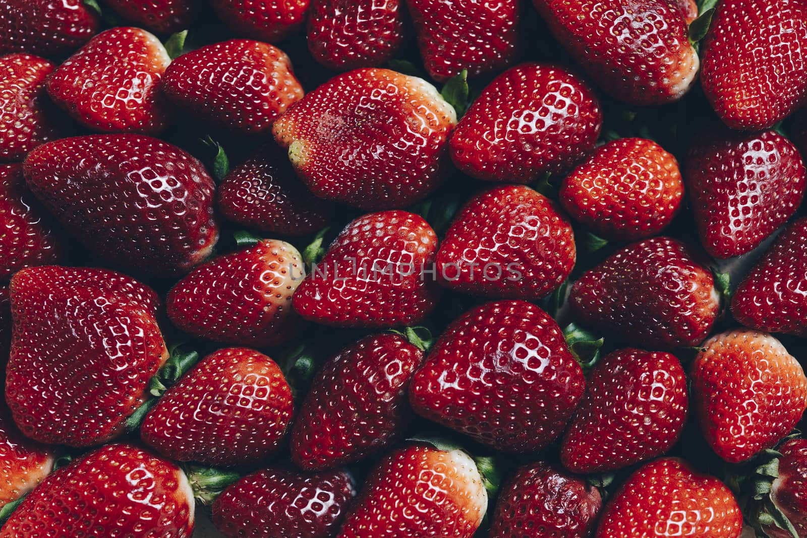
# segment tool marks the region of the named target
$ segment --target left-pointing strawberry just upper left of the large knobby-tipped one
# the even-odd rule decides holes
[[[241,134],[268,132],[303,97],[286,53],[249,39],[213,43],[179,56],[165,69],[161,89],[200,122]]]

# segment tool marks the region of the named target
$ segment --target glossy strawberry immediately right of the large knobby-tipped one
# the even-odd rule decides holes
[[[496,77],[451,136],[454,164],[480,180],[530,183],[594,149],[596,95],[564,68],[521,64]]]

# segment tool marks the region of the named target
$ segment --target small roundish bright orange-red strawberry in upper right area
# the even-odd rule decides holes
[[[681,207],[678,161],[646,139],[600,146],[564,180],[563,209],[602,238],[637,241],[659,234]]]

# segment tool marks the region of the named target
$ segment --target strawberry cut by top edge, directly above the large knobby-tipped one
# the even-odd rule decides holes
[[[312,0],[308,50],[330,69],[381,65],[403,42],[402,15],[403,0]]]

